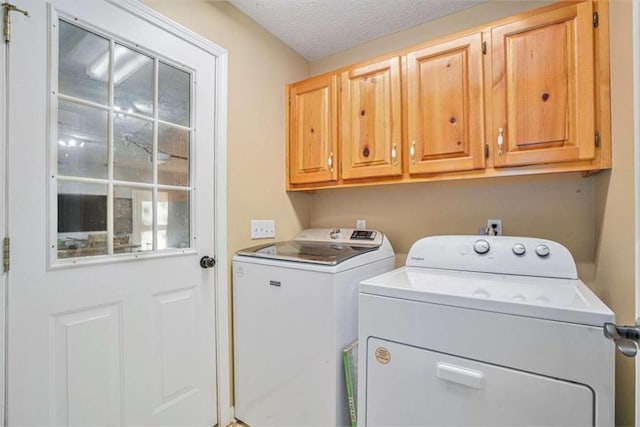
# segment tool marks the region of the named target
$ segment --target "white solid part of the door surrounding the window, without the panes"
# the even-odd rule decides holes
[[[199,259],[214,256],[216,58],[105,1],[17,6],[30,17],[11,15],[8,47],[8,423],[214,425],[214,271]],[[57,259],[58,17],[192,70],[190,247]]]

